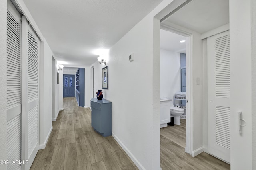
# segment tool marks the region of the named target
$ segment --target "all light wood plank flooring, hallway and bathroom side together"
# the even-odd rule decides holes
[[[91,111],[64,98],[64,111],[52,122],[45,149],[39,150],[30,170],[138,170],[115,139],[102,137],[91,127]],[[225,170],[230,165],[202,153],[184,152],[186,120],[160,130],[162,170]]]

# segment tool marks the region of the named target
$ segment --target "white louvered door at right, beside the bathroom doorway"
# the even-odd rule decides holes
[[[230,162],[229,31],[207,39],[208,151]]]

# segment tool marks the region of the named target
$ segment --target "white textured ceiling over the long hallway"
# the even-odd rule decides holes
[[[24,0],[57,60],[90,66],[162,0]],[[97,54],[97,55],[96,55]]]

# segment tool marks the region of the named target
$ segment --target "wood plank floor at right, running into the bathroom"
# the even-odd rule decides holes
[[[180,119],[181,125],[160,129],[160,153],[162,170],[230,170],[230,165],[202,152],[196,157],[187,154],[186,119]]]

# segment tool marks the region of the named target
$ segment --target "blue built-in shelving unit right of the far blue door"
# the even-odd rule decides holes
[[[84,68],[78,68],[76,72],[75,96],[78,106],[84,107]]]

